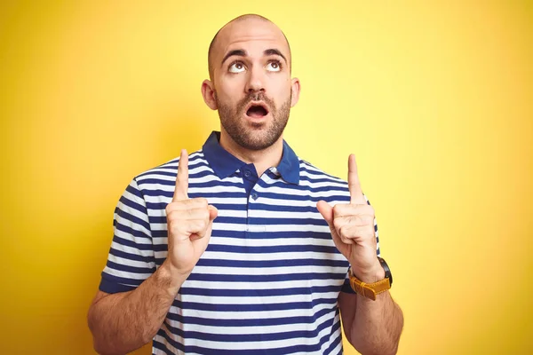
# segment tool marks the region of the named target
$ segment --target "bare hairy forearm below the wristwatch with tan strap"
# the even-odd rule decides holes
[[[341,292],[338,307],[349,343],[362,354],[395,354],[403,327],[403,314],[388,291],[372,301]]]

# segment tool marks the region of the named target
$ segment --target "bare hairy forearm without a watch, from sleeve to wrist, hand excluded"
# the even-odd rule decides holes
[[[124,354],[149,343],[188,275],[172,275],[167,261],[139,288],[117,294],[98,291],[87,320],[94,350]]]

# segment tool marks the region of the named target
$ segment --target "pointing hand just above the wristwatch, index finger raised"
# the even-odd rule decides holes
[[[331,208],[326,201],[318,201],[316,208],[330,225],[335,246],[350,262],[354,275],[363,282],[377,282],[385,278],[385,271],[376,254],[374,209],[362,194],[354,154],[348,158],[348,188],[350,203]]]

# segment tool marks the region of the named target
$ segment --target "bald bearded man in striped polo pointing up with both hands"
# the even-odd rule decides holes
[[[282,139],[300,91],[282,31],[258,15],[230,21],[209,68],[202,94],[220,132],[123,193],[88,315],[95,349],[340,353],[341,317],[355,349],[395,353],[402,312],[354,156],[346,184]]]

